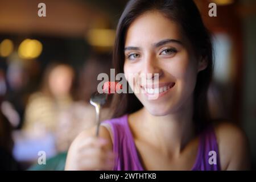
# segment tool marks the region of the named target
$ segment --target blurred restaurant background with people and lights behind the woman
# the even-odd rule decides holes
[[[92,127],[89,97],[112,68],[126,0],[0,0],[0,169],[63,170],[72,140]],[[245,130],[256,169],[256,1],[196,0],[212,32],[212,117]],[[217,17],[209,17],[209,3]],[[102,119],[111,115],[108,104]],[[46,165],[39,165],[39,151]]]

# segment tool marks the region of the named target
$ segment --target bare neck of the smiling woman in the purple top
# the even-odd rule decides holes
[[[180,154],[184,146],[195,137],[193,124],[193,101],[187,102],[178,111],[156,117],[143,108],[142,128],[147,142],[160,148],[165,154]],[[148,140],[148,138],[150,140]]]

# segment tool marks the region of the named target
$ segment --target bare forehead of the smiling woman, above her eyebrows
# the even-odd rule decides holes
[[[159,11],[149,11],[131,23],[127,30],[125,45],[154,43],[162,39],[181,40],[179,25]]]

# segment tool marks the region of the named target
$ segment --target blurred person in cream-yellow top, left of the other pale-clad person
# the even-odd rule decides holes
[[[42,89],[28,99],[23,131],[32,135],[44,131],[55,133],[59,113],[73,102],[73,78],[74,71],[71,66],[58,63],[49,65]]]

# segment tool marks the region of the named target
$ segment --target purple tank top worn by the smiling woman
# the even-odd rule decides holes
[[[114,171],[144,171],[139,160],[137,148],[134,143],[133,135],[128,123],[128,115],[120,118],[109,119],[102,123],[111,126],[113,136],[113,150],[117,154],[115,159]],[[218,156],[218,144],[213,127],[208,127],[199,136],[199,149],[196,162],[192,171],[217,171],[220,170],[220,158]],[[212,156],[210,151],[215,151],[217,164],[210,164]],[[213,162],[210,159],[210,162]]]

